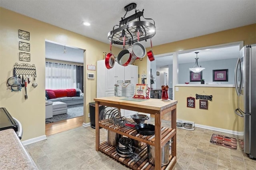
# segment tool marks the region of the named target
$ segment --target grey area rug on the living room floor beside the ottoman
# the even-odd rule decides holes
[[[68,113],[61,114],[61,115],[55,115],[52,118],[45,119],[45,123],[63,121],[66,119],[72,119],[74,117],[80,117],[83,115],[84,115],[84,105],[68,106]]]

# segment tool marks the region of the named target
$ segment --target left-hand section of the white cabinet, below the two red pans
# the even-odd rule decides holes
[[[104,65],[106,68],[106,66]],[[105,90],[106,91],[114,91],[114,84],[118,80],[124,80],[124,66],[119,65],[117,62],[115,63],[112,69],[106,69],[105,72]]]

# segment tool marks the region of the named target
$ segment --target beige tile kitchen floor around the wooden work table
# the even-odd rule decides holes
[[[164,123],[162,123],[163,126]],[[166,125],[168,127],[168,125]],[[256,170],[256,160],[241,149],[228,149],[210,143],[212,130],[177,128],[177,163],[174,170]],[[232,136],[231,134],[224,134]],[[106,140],[106,129],[100,129],[100,141]],[[128,170],[95,150],[95,130],[78,127],[47,136],[47,140],[25,146],[39,169]]]

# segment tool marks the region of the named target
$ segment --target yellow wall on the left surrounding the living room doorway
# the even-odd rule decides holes
[[[22,140],[35,138],[45,134],[45,40],[66,44],[71,47],[85,49],[84,66],[96,65],[96,61],[103,59],[102,52],[109,51],[109,44],[75,34],[73,32],[34,20],[10,10],[0,8],[0,107],[5,107],[10,114],[18,119],[23,126]],[[30,41],[18,38],[18,30],[30,32]],[[30,43],[30,62],[18,60],[18,43]],[[119,48],[113,47],[113,53]],[[28,99],[25,91],[11,92],[7,89],[6,81],[12,77],[14,63],[29,63],[36,66],[38,86],[28,85]],[[87,75],[84,69],[84,77]],[[92,72],[92,71],[90,71]],[[96,75],[96,71],[94,71]],[[84,78],[85,98],[84,114],[88,115],[88,103],[96,97],[96,78]],[[88,116],[84,122],[90,122]]]

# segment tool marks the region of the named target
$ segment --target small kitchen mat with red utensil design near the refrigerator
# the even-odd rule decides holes
[[[229,136],[224,136],[221,134],[212,134],[210,142],[213,144],[224,146],[226,148],[237,149],[236,138],[232,138]]]

